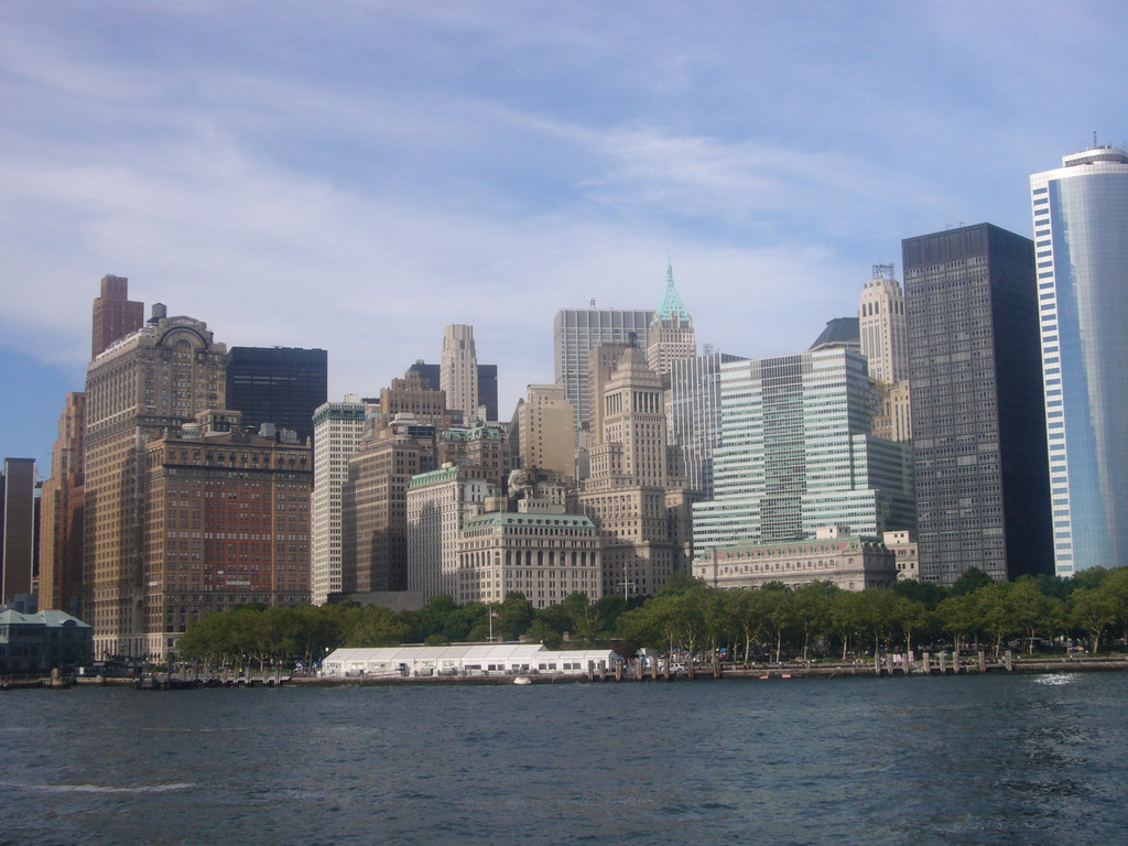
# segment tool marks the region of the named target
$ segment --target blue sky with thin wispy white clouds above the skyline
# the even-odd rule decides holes
[[[758,356],[856,314],[902,238],[1030,235],[1029,175],[1125,146],[1128,6],[0,5],[0,457],[50,475],[102,276],[376,395],[448,324],[500,413],[563,308]]]

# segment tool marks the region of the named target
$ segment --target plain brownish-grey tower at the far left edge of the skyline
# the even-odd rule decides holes
[[[6,458],[0,475],[0,605],[35,579],[35,459]]]

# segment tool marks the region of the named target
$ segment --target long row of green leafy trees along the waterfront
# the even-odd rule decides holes
[[[212,666],[297,662],[307,666],[338,646],[439,645],[523,637],[558,649],[618,640],[633,654],[721,654],[730,660],[835,656],[904,650],[919,644],[989,645],[998,653],[1021,641],[1028,651],[1084,637],[1098,651],[1109,635],[1128,637],[1128,567],[1084,571],[1073,579],[995,582],[969,570],[952,588],[898,582],[888,589],[844,591],[828,582],[790,589],[720,590],[684,574],[658,596],[627,602],[582,593],[534,609],[520,593],[501,603],[458,605],[437,597],[422,609],[376,606],[301,608],[240,606],[211,615],[180,640],[179,656]]]

